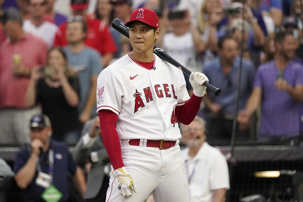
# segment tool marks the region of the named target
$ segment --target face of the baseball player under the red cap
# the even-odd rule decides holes
[[[154,48],[155,40],[159,38],[160,29],[154,33],[151,26],[141,22],[135,21],[129,28],[129,39],[134,51],[138,53],[145,53]]]

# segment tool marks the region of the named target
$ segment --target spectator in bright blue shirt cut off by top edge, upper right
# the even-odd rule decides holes
[[[276,27],[280,27],[282,24],[282,1],[281,0],[261,0],[261,10],[263,15],[270,16]]]

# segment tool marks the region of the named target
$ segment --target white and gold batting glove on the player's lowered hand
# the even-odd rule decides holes
[[[117,178],[116,183],[120,195],[129,197],[132,195],[132,191],[137,193],[135,182],[132,177],[129,176],[125,167],[112,171],[112,174]]]

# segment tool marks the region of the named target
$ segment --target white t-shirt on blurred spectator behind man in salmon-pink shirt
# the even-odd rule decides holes
[[[55,40],[58,26],[51,22],[44,21],[42,25],[36,27],[30,19],[27,19],[23,22],[23,30],[25,33],[31,33],[32,35],[42,38],[48,48],[51,48]]]

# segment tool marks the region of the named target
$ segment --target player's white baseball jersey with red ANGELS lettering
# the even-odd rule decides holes
[[[97,113],[118,114],[120,139],[181,138],[175,106],[190,97],[180,69],[154,55],[155,69],[138,64],[129,54],[105,68],[97,80]]]

